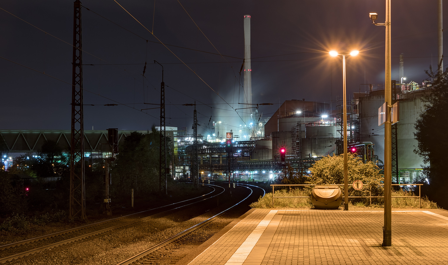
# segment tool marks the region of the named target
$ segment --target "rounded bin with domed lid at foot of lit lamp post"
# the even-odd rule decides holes
[[[311,192],[311,203],[316,209],[338,209],[342,192],[337,185],[316,185]]]

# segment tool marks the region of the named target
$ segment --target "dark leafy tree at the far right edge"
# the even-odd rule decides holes
[[[440,68],[440,64],[439,64]],[[433,72],[431,66],[425,71],[433,79],[432,88],[428,90],[422,101],[422,111],[414,125],[414,133],[418,145],[414,152],[423,158],[424,174],[429,185],[423,186],[423,192],[430,200],[442,207],[448,207],[446,188],[446,150],[448,150],[448,123],[444,117],[448,115],[448,80],[447,70]]]

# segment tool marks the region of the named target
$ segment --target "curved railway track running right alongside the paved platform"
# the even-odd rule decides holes
[[[228,213],[231,209],[241,205],[246,201],[253,193],[254,189],[262,189],[250,184],[236,184],[240,187],[245,187],[250,190],[249,195],[232,205],[228,209],[215,214],[211,218],[208,218],[188,229],[173,235],[172,237],[147,248],[146,250],[127,258],[124,261],[116,263],[116,265],[130,265],[130,264],[176,264],[185,256],[187,256],[192,249],[206,242],[213,235],[221,231],[231,221],[218,220],[220,216]],[[263,189],[262,189],[263,190]],[[264,196],[264,190],[263,190]]]

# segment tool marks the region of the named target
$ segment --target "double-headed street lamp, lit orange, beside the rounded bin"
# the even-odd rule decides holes
[[[348,171],[348,159],[347,159],[347,96],[345,93],[345,56],[358,55],[359,51],[352,51],[348,54],[339,54],[337,51],[330,51],[331,56],[342,55],[342,97],[343,99],[343,116],[344,116],[344,210],[349,210],[349,180],[347,176]]]

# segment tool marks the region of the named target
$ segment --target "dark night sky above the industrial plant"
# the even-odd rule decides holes
[[[197,106],[199,133],[210,134],[218,117],[238,123],[230,106],[241,107],[246,14],[251,16],[252,101],[274,103],[258,109],[263,117],[284,100],[329,103],[340,97],[342,58],[328,56],[333,49],[360,51],[346,61],[350,97],[366,90],[360,84],[384,83],[384,26],[372,25],[368,13],[378,13],[377,22],[384,22],[385,1],[181,0],[224,57],[211,54],[218,51],[178,1],[117,1],[154,36],[113,0],[82,1],[90,9],[82,9],[84,104],[98,105],[84,107],[85,130],[147,130],[159,124],[159,109],[140,111],[157,107],[142,103],[160,103],[162,68],[154,60],[164,65],[167,126],[192,133],[193,107],[182,104],[195,100],[208,105]],[[6,0],[0,7],[31,24],[0,9],[0,56],[17,63],[0,58],[0,128],[70,129],[73,1]],[[407,81],[427,78],[424,70],[437,64],[436,30],[436,0],[392,1],[392,79],[399,78],[401,53]],[[178,46],[167,47],[203,81],[155,37]],[[108,103],[127,105],[103,106]]]

